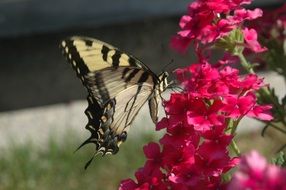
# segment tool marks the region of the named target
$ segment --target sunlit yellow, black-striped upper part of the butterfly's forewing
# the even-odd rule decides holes
[[[62,41],[61,49],[78,75],[85,75],[88,72],[98,71],[106,67],[146,67],[133,56],[121,52],[110,44],[92,38],[68,38]]]

